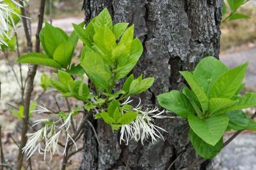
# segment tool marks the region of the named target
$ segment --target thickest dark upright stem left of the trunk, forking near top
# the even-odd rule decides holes
[[[23,6],[23,1],[19,1],[20,4]],[[40,52],[40,39],[39,39],[39,32],[42,29],[42,25],[44,22],[44,7],[45,7],[45,0],[41,0],[40,2],[40,11],[38,15],[38,26],[36,31],[36,52]],[[24,8],[20,8],[22,17],[22,22],[24,25],[24,30],[27,39],[27,45],[29,52],[32,52],[32,41],[31,41],[31,34],[29,34],[28,22],[26,20],[26,12]],[[22,154],[22,148],[26,145],[28,140],[26,133],[28,132],[28,122],[29,122],[29,105],[31,99],[31,93],[33,91],[33,82],[36,74],[37,66],[33,64],[29,64],[28,76],[27,81],[28,84],[26,85],[26,90],[24,92],[24,111],[23,111],[23,122],[22,122],[22,133],[21,133],[21,140],[20,140],[20,147],[19,147],[19,155],[17,160],[16,169],[20,170],[22,168],[22,162],[24,155]]]

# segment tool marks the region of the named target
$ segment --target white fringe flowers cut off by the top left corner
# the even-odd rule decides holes
[[[15,0],[12,0],[12,3],[20,7],[20,4]],[[0,0],[0,50],[1,45],[7,45],[4,41],[5,38],[10,39],[8,35],[9,31],[16,31],[15,22],[13,20],[13,15],[21,17],[17,12],[15,12],[8,4],[4,3],[4,0]]]

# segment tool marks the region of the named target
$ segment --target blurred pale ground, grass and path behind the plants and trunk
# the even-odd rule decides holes
[[[38,6],[40,1],[30,0],[29,12],[31,18],[31,31],[35,35],[37,26]],[[79,24],[83,22],[84,11],[82,11],[82,2],[80,0],[47,0],[45,20],[51,20],[52,25],[64,29],[70,33],[73,29],[72,23]],[[244,82],[246,83],[246,92],[256,92],[256,0],[250,0],[237,10],[239,13],[244,13],[250,18],[232,20],[221,24],[221,47],[220,47],[220,60],[225,62],[229,67],[235,67],[243,62],[248,61],[248,71]],[[226,14],[228,15],[228,13]],[[224,16],[225,18],[225,16]],[[22,25],[18,29],[18,39],[20,53],[26,53],[26,38]],[[35,41],[35,36],[33,36]],[[76,56],[80,55],[82,44],[78,45],[76,49]],[[8,55],[6,57],[6,55]],[[11,110],[14,107],[19,107],[20,92],[19,85],[15,80],[13,72],[19,71],[19,66],[15,63],[17,59],[17,53],[8,52],[8,54],[0,52],[0,78],[1,78],[1,100],[0,100],[0,124],[2,129],[2,140],[4,146],[4,152],[6,153],[6,160],[14,165],[17,155],[18,147],[15,145],[15,139],[20,139],[20,121],[15,117]],[[22,66],[22,76],[26,77],[28,68],[26,64]],[[40,86],[40,77],[42,73],[49,74],[52,70],[45,67],[39,67],[35,78],[35,88],[33,97],[36,99],[38,96],[44,93],[44,90]],[[51,90],[46,92],[51,93]],[[60,96],[56,96],[56,99],[60,103]],[[69,99],[71,104],[76,104]],[[50,95],[45,95],[40,98],[45,105],[49,108],[54,108],[55,101]],[[8,105],[9,104],[9,105]],[[63,104],[65,107],[65,104]],[[246,110],[247,113],[252,115],[255,109]],[[40,115],[36,115],[34,119],[42,118]],[[232,132],[225,134],[227,139]],[[214,169],[256,169],[256,134],[255,132],[244,131],[240,134],[230,145],[223,149],[223,151],[216,157],[213,162]],[[79,141],[78,145],[82,145]],[[79,162],[82,159],[83,153],[77,153],[70,160],[72,166],[68,166],[68,169],[76,169],[79,166]],[[61,153],[54,155],[51,162],[44,162],[42,155],[36,153],[32,162],[36,166],[34,169],[58,169],[61,165]]]

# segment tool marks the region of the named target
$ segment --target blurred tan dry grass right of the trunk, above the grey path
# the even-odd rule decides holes
[[[237,12],[249,15],[250,19],[232,20],[221,25],[221,50],[256,43],[256,6],[244,4]]]

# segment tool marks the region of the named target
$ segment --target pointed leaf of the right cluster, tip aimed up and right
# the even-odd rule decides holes
[[[230,99],[236,94],[237,89],[243,81],[244,74],[246,73],[246,67],[248,62],[241,66],[230,69],[226,73],[222,74],[210,90],[210,97],[222,97]]]

